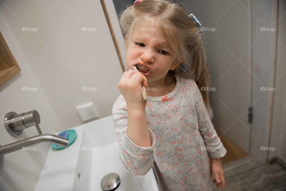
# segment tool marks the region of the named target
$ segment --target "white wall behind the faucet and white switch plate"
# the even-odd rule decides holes
[[[99,118],[111,115],[111,107],[120,94],[117,83],[122,69],[100,1],[2,2],[0,31],[21,72],[0,86],[0,144],[37,134],[31,127],[19,137],[10,136],[3,124],[9,111],[37,110],[43,133],[82,124],[75,108],[91,101]],[[22,31],[22,27],[37,31]],[[97,31],[82,31],[82,27]],[[38,90],[22,91],[24,86]],[[84,86],[97,91],[82,91]],[[4,156],[1,191],[34,189],[49,144],[35,147],[37,151],[19,150]]]

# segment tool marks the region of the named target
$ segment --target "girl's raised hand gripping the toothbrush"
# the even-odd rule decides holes
[[[146,103],[142,99],[142,85],[147,88],[147,78],[134,70],[125,71],[119,80],[117,87],[122,93],[127,110],[132,108],[145,109]]]

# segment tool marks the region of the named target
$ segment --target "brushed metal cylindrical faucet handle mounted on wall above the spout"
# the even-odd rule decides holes
[[[38,130],[38,125],[40,124],[40,121],[40,115],[36,110],[28,111],[26,113],[21,114],[17,114],[11,111],[8,112],[4,117],[5,128],[12,136],[21,135],[23,129],[29,128],[34,125],[36,125],[36,128]]]

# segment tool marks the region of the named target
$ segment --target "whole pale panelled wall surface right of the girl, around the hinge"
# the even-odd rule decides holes
[[[279,2],[278,6],[278,1],[267,0],[184,1],[185,8],[194,13],[204,27],[216,29],[205,31],[203,35],[211,86],[216,88],[215,92],[209,92],[215,129],[260,162],[267,162],[274,154],[283,160],[286,158],[283,138],[286,136],[286,14],[283,15],[286,6],[285,1]],[[261,27],[277,30],[261,31]],[[241,62],[234,63],[236,58]],[[261,91],[261,87],[276,87],[276,91]],[[252,125],[248,124],[250,105],[254,112]],[[271,145],[276,147],[276,152],[270,155],[260,150],[262,146]]]

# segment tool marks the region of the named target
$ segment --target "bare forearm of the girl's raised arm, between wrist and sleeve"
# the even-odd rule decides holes
[[[132,109],[128,110],[128,137],[140,147],[151,147],[149,130],[145,110]]]

